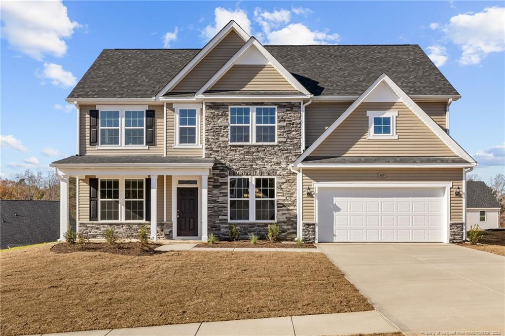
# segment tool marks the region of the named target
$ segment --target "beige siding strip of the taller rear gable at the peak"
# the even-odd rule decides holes
[[[244,40],[233,30],[228,33],[171,92],[196,92],[216,73],[244,44]]]

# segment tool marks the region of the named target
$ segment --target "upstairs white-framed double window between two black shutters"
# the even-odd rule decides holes
[[[147,106],[97,106],[98,148],[137,148],[145,146]]]

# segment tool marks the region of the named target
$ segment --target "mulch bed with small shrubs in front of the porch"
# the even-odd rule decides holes
[[[51,247],[51,252],[55,253],[73,253],[73,252],[103,252],[120,254],[123,256],[152,256],[162,251],[155,251],[158,244],[148,244],[143,248],[140,243],[118,243],[116,246],[111,246],[106,243],[84,243],[84,244],[69,244],[60,243]]]

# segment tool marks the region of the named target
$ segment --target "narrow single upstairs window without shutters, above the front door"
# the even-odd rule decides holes
[[[200,147],[200,104],[174,104],[174,147]]]

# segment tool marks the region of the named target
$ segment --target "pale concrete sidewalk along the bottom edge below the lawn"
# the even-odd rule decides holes
[[[396,332],[377,311],[44,333],[43,336],[320,336]],[[38,334],[39,336],[41,334]]]

